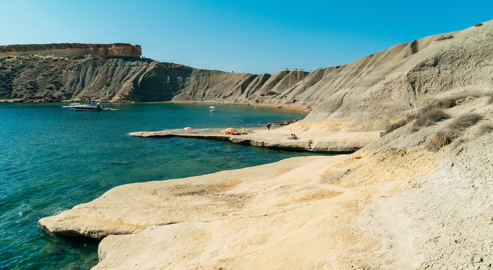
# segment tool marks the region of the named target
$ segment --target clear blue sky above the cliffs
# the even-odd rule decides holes
[[[0,0],[0,45],[130,43],[199,69],[330,67],[493,19],[493,0]]]

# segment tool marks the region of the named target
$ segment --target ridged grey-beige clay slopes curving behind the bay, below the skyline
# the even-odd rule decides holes
[[[111,58],[109,49],[104,58],[8,56],[0,58],[0,99],[311,105],[306,121],[345,119],[334,129],[379,130],[446,95],[492,90],[493,21],[446,35],[397,44],[343,66],[272,75]]]

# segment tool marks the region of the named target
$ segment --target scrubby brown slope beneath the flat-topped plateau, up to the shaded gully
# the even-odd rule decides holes
[[[139,58],[0,58],[0,99],[119,101],[151,61]]]

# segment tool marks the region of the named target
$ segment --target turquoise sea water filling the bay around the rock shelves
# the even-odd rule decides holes
[[[0,103],[0,269],[90,269],[97,242],[56,238],[37,221],[131,182],[167,180],[271,163],[305,152],[228,141],[139,138],[129,132],[226,128],[246,132],[305,112],[204,103],[107,103],[73,111],[60,103]],[[216,112],[208,107],[216,106]]]

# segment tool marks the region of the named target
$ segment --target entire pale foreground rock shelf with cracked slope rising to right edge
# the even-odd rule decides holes
[[[350,155],[126,184],[39,224],[102,239],[93,270],[488,269],[493,102],[454,104]],[[464,124],[470,114],[482,117]]]

